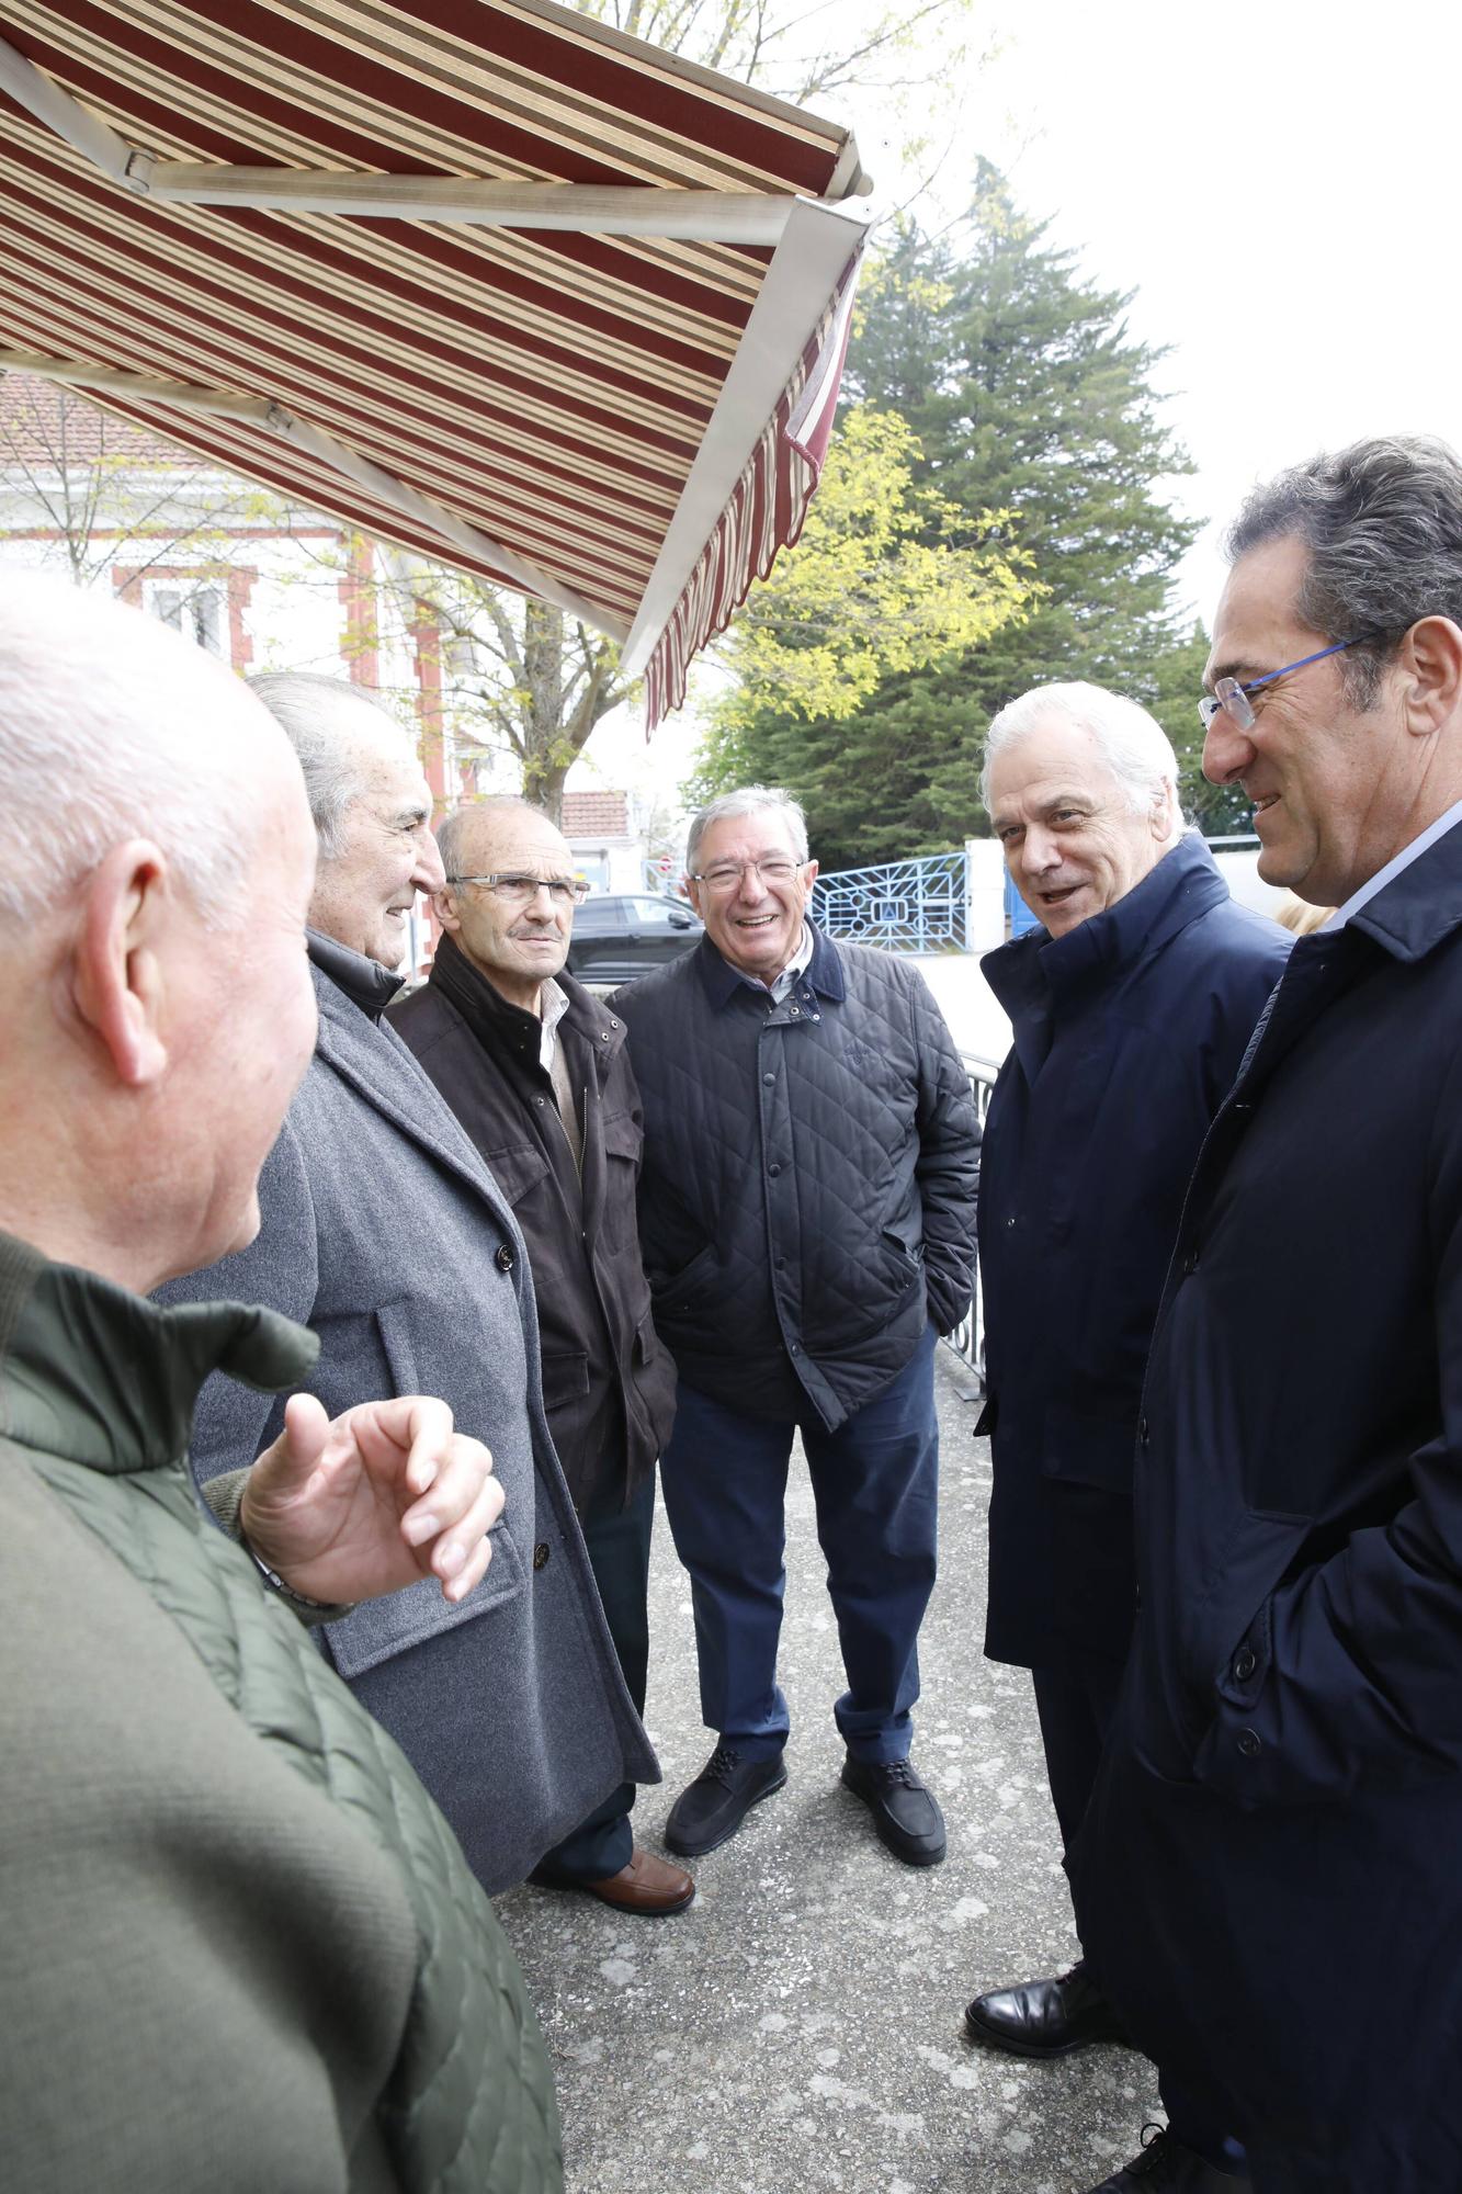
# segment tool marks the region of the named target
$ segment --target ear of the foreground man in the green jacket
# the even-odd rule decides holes
[[[167,1068],[158,952],[173,915],[167,858],[149,838],[112,847],[86,882],[72,998],[125,1088]]]

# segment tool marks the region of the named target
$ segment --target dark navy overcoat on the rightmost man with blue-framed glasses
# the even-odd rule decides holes
[[[1260,2194],[1462,2187],[1462,825],[1302,939],[1183,1211],[1082,1942]]]

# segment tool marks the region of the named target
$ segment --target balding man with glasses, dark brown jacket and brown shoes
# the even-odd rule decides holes
[[[485,1158],[527,1242],[542,1393],[604,1613],[639,1711],[650,1667],[654,1463],[674,1365],[639,1257],[639,1090],[626,1029],[564,972],[582,889],[573,856],[520,799],[459,807],[439,832],[443,937],[430,981],[389,1009]],[[533,1869],[615,1911],[696,1896],[685,1867],[634,1845],[623,1782]]]

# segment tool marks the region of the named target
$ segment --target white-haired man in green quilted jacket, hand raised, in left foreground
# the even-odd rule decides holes
[[[259,1226],[314,1044],[312,873],[299,766],[239,680],[7,575],[0,2126],[24,2194],[562,2187],[487,1900],[301,1621],[402,1584],[470,1608],[501,1558],[487,1457],[439,1400],[360,1391],[329,1422],[294,1393],[211,1488],[220,1531],[187,1472],[198,1389],[299,1389],[316,1345],[145,1299]]]

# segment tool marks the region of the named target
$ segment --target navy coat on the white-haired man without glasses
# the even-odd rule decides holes
[[[1106,913],[981,961],[1014,1029],[979,1207],[997,1661],[1126,1654],[1152,1319],[1183,1189],[1289,946],[1190,836]]]

